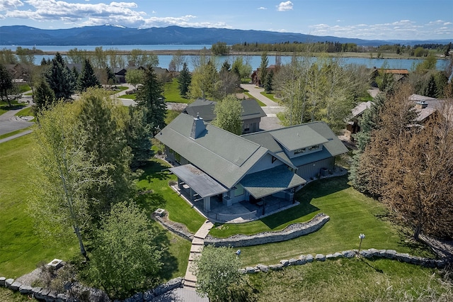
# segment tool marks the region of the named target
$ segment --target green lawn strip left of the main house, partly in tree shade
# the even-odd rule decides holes
[[[144,169],[144,174],[137,185],[143,189],[153,190],[154,198],[150,204],[159,204],[160,208],[168,211],[168,218],[185,224],[191,233],[196,233],[205,222],[205,218],[168,186],[168,181],[176,181],[176,176],[167,170],[166,162],[153,159],[150,160],[147,167],[142,169]]]

